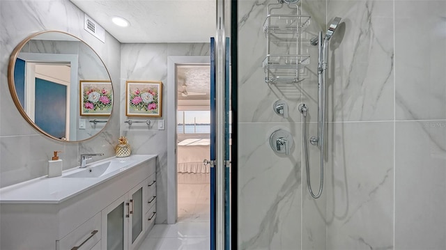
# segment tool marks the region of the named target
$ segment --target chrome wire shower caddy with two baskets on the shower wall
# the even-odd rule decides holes
[[[291,14],[290,14],[291,13]],[[263,32],[266,33],[266,57],[263,59],[268,84],[302,81],[309,55],[302,54],[302,32],[310,24],[309,15],[300,15],[297,4],[268,5]]]

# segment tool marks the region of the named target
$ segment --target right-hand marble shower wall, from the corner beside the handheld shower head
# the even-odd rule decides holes
[[[327,249],[445,249],[446,3],[329,0],[334,16]]]

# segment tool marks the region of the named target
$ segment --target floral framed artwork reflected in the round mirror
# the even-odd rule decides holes
[[[113,108],[113,88],[111,81],[81,80],[81,116],[109,116]]]

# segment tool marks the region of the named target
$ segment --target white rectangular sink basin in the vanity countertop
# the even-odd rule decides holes
[[[68,175],[63,175],[65,178],[99,178],[108,173],[112,173],[119,169],[125,168],[132,164],[134,161],[110,161],[103,162],[94,166],[87,166],[82,171],[77,171],[75,173],[70,173]]]

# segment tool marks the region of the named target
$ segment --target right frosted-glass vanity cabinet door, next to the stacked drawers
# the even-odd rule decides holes
[[[143,190],[145,182],[130,190],[129,249],[134,249],[144,235]]]

